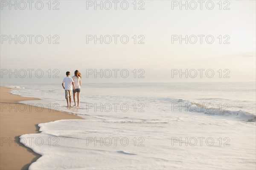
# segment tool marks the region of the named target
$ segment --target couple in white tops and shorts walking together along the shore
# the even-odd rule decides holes
[[[77,106],[79,107],[80,103],[80,89],[81,89],[81,73],[76,70],[75,75],[71,78],[70,72],[66,72],[67,77],[62,81],[62,87],[65,89],[65,98],[67,100],[67,107],[71,107],[71,98],[72,98],[72,86],[73,86],[73,99],[76,106],[76,92],[77,92]]]

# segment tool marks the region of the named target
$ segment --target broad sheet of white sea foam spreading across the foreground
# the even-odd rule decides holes
[[[176,117],[167,124],[60,120],[39,124],[41,133],[20,138],[42,155],[30,170],[255,168],[255,126],[216,119],[205,123],[205,117],[183,115],[183,121]]]

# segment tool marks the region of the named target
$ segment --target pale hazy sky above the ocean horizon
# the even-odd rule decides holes
[[[12,1],[15,3],[15,1]],[[17,1],[18,3],[19,1]],[[26,2],[26,1],[25,1]],[[37,1],[34,1],[35,3]],[[168,0],[144,0],[137,1],[136,8],[143,5],[144,10],[134,10],[134,1],[127,1],[129,7],[123,10],[120,7],[122,1],[117,3],[117,9],[114,9],[114,3],[111,2],[110,10],[100,10],[99,6],[87,6],[94,1],[69,1],[59,0],[53,3],[51,1],[51,10],[47,1],[43,1],[44,7],[41,10],[35,8],[32,3],[32,9],[29,10],[29,3],[26,3],[26,9],[21,10],[17,6],[9,9],[9,1],[1,1],[0,12],[0,66],[2,69],[1,83],[26,83],[26,82],[61,82],[66,71],[73,72],[78,69],[84,76],[84,81],[93,82],[179,82],[179,81],[256,81],[256,1],[255,0],[230,0],[225,3],[222,1],[221,10],[219,1],[212,1],[214,8],[209,10],[206,3],[197,3],[197,9],[186,10],[183,6],[173,6],[174,1]],[[100,1],[97,1],[100,3]],[[105,1],[102,1],[104,4]],[[178,3],[180,1],[177,1]],[[189,3],[190,1],[188,1]],[[197,1],[195,1],[197,2]],[[207,1],[205,1],[207,2]],[[186,3],[183,1],[183,3]],[[125,3],[122,3],[125,8]],[[58,5],[59,10],[52,10],[52,7]],[[108,8],[108,3],[105,3]],[[191,3],[191,8],[194,5]],[[40,3],[38,4],[40,7]],[[230,10],[223,10],[227,6]],[[211,4],[208,4],[211,7]],[[20,4],[23,8],[23,4]],[[88,8],[88,9],[87,9]],[[26,43],[21,44],[12,40],[3,40],[5,36],[19,37],[25,35]],[[29,43],[27,35],[34,35],[32,43]],[[35,42],[35,36],[41,35],[44,41],[41,44]],[[49,44],[51,40],[57,40],[58,44]],[[112,42],[110,44],[99,43],[99,40],[89,41],[87,35],[96,35],[103,37],[110,35]],[[113,35],[117,37],[117,43],[114,43]],[[123,44],[120,41],[122,35],[127,35],[129,41]],[[137,36],[137,43],[134,44],[134,35]],[[144,44],[138,44],[142,37]],[[196,35],[197,43],[180,44],[179,40],[172,43],[172,35]],[[206,38],[198,35],[212,35],[214,42],[209,44]],[[221,44],[218,36],[221,35]],[[226,35],[226,37],[224,37]],[[48,37],[48,38],[47,38]],[[20,41],[23,38],[20,37]],[[229,40],[227,40],[230,38]],[[123,39],[125,40],[125,38]],[[194,39],[191,39],[194,41]],[[209,39],[210,40],[210,39]],[[229,44],[224,44],[227,40]],[[2,42],[3,41],[3,42]],[[108,41],[108,38],[106,39]],[[3,69],[42,69],[43,78],[8,78],[3,75]],[[47,70],[58,69],[60,78],[47,78]],[[122,78],[119,73],[117,78],[94,78],[88,75],[88,69],[127,69],[128,78]],[[136,77],[142,73],[145,78],[133,78],[137,69]],[[215,73],[213,78],[207,78],[203,72],[202,78],[180,78],[179,74],[172,78],[172,69],[185,72],[185,69],[212,69]],[[222,70],[219,78],[219,69]],[[224,72],[228,69],[230,72]],[[29,73],[29,72],[27,72]],[[56,73],[56,72],[55,72]],[[112,72],[113,74],[114,72]],[[199,71],[198,71],[199,73]],[[223,78],[228,73],[230,78]],[[193,74],[194,75],[194,74]],[[52,75],[51,75],[52,77]]]

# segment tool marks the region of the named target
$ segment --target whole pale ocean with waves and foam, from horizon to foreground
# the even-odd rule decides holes
[[[85,118],[21,135],[42,155],[30,170],[256,169],[255,82],[83,83],[71,108],[61,83],[2,86],[41,98],[21,103]]]

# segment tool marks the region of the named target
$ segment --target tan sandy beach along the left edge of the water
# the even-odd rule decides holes
[[[0,169],[26,170],[40,155],[17,143],[20,135],[40,133],[37,126],[40,123],[82,118],[67,112],[52,112],[47,108],[38,112],[38,108],[35,106],[26,105],[26,109],[24,109],[25,105],[18,104],[18,101],[38,100],[40,103],[40,99],[13,95],[9,92],[9,88],[0,87]],[[16,142],[12,142],[15,139]]]

